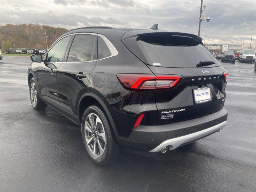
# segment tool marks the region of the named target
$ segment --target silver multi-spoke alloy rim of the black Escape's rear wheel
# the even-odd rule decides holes
[[[96,157],[102,156],[106,145],[106,135],[100,118],[94,113],[88,114],[84,130],[86,144],[90,152]]]

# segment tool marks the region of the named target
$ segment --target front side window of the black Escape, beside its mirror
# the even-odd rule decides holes
[[[63,62],[62,58],[66,52],[70,36],[59,40],[48,52],[46,62]]]

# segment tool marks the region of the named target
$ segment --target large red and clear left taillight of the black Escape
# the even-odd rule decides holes
[[[172,88],[183,76],[162,74],[118,74],[118,80],[128,90],[154,90]]]

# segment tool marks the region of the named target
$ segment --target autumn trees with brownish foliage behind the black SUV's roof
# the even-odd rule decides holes
[[[62,34],[65,28],[40,24],[6,24],[0,26],[0,49],[8,48],[46,48],[44,33],[47,32],[48,47]]]

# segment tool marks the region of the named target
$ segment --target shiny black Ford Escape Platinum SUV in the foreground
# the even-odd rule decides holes
[[[49,105],[80,125],[97,164],[123,147],[164,153],[226,124],[228,72],[196,35],[78,28],[31,59],[33,108]]]

